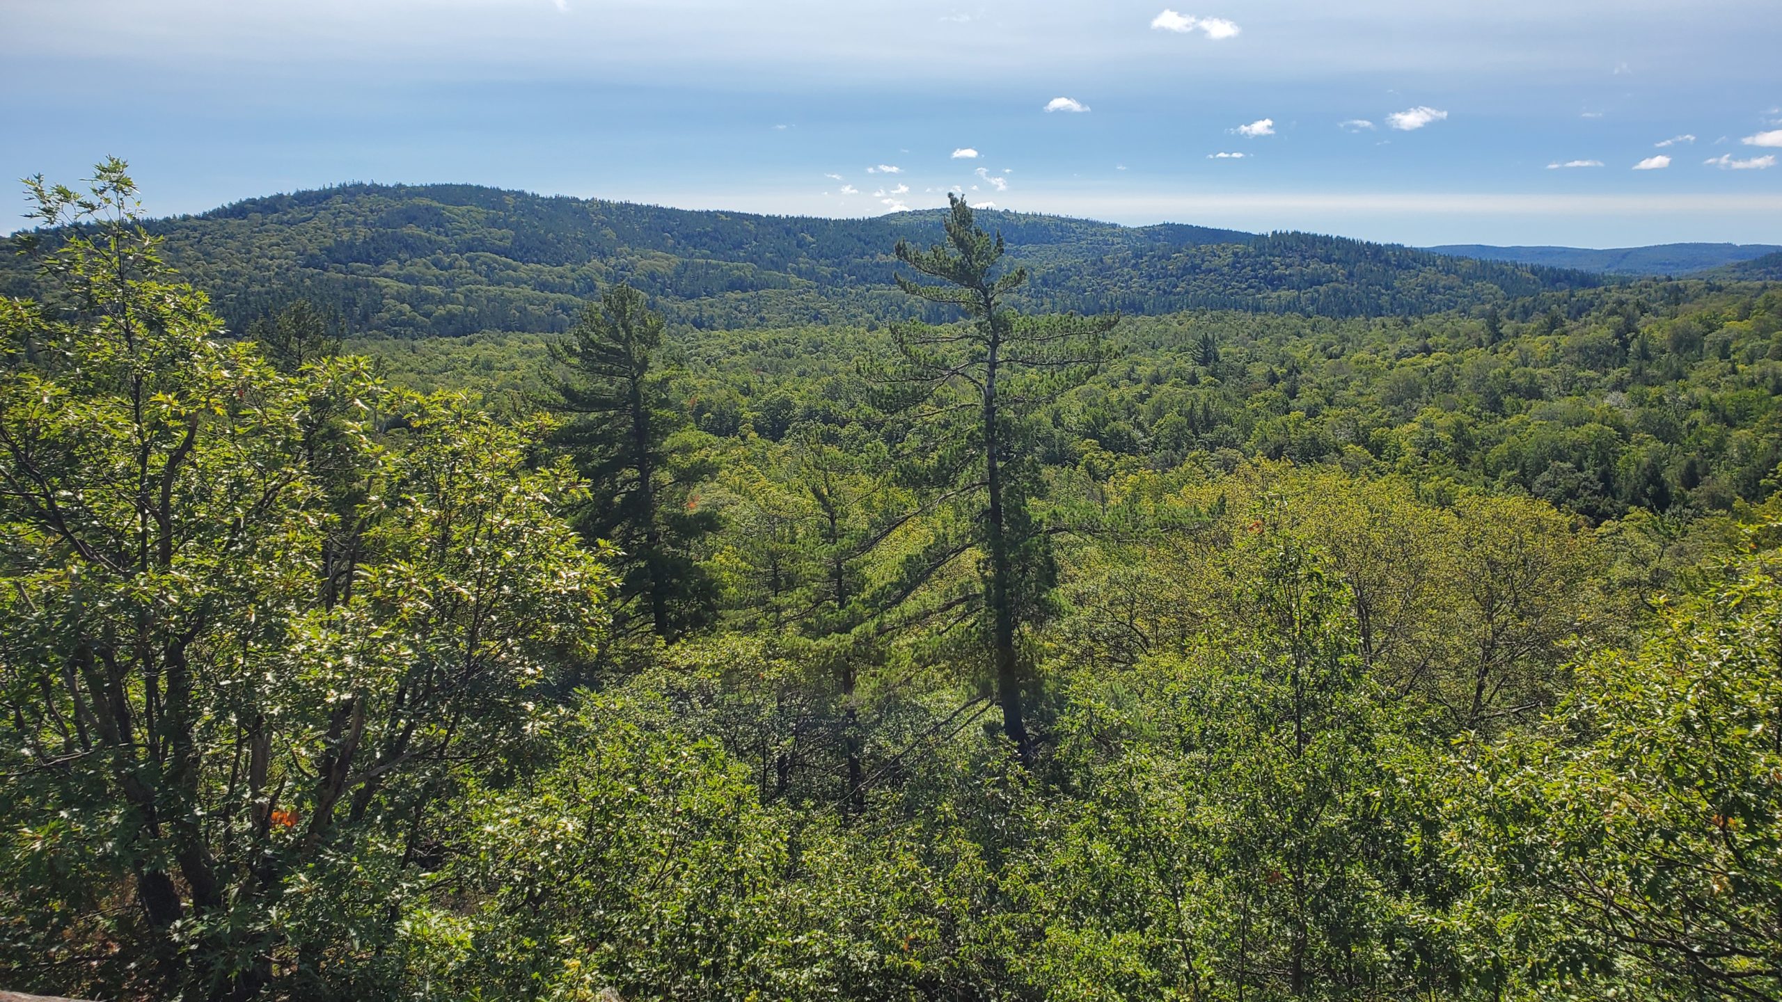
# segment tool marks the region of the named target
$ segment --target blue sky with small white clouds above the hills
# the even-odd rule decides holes
[[[1778,53],[1778,0],[0,0],[0,175],[1782,242]]]

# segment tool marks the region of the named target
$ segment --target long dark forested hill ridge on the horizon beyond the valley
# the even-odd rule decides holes
[[[909,316],[891,246],[941,234],[941,210],[875,219],[693,212],[476,185],[342,185],[153,223],[168,260],[232,328],[307,298],[353,330],[396,337],[554,332],[627,278],[670,323],[699,328],[866,323]],[[1117,226],[991,212],[1034,271],[1028,307],[1415,316],[1602,283],[1310,234]],[[32,264],[0,255],[0,292]]]

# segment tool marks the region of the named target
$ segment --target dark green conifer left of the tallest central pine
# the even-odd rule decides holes
[[[568,417],[552,444],[590,481],[576,528],[618,547],[620,597],[642,603],[656,635],[672,642],[716,613],[716,587],[691,547],[718,519],[699,505],[695,487],[711,467],[677,435],[688,415],[670,398],[661,341],[661,316],[620,282],[551,342],[544,403]]]

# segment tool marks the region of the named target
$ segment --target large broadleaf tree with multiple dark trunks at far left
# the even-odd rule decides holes
[[[609,581],[552,513],[572,472],[365,360],[285,376],[219,341],[125,164],[32,193],[82,226],[45,264],[66,310],[0,301],[0,966],[380,995],[433,815],[522,756],[526,688],[597,637]],[[362,401],[328,449],[365,481],[351,569],[326,562],[319,398]]]

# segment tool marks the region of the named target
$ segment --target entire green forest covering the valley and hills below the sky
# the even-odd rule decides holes
[[[1782,995],[1782,285],[451,191],[32,185],[0,988]]]

